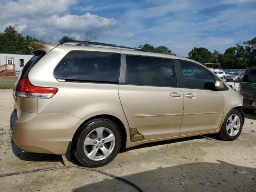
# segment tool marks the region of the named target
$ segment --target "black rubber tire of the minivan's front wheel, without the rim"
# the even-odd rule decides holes
[[[227,122],[228,122],[228,118],[231,115],[233,115],[233,114],[238,115],[238,117],[240,119],[240,129],[238,130],[238,133],[235,136],[230,136],[228,134],[227,129],[226,129],[226,125],[227,125]],[[225,141],[233,141],[233,140],[235,140],[241,134],[241,131],[242,131],[242,128],[243,128],[243,124],[244,124],[244,120],[243,120],[242,113],[239,110],[237,110],[237,109],[230,110],[230,112],[227,114],[227,116],[226,116],[226,118],[225,118],[225,120],[224,120],[224,122],[222,124],[220,132],[218,133],[218,137],[221,140],[225,140]]]

